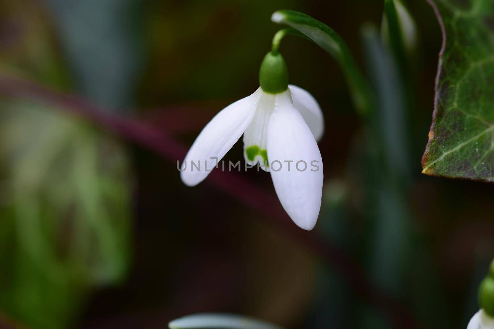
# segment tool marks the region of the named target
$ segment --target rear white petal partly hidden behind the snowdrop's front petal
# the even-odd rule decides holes
[[[288,88],[290,88],[291,98],[293,99],[295,109],[302,114],[312,135],[314,135],[316,141],[319,142],[324,134],[324,116],[321,107],[316,99],[305,89],[292,84],[288,85]]]

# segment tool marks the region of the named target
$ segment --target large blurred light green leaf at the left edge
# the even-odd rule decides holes
[[[65,328],[91,287],[124,278],[126,156],[47,107],[0,106],[0,308],[28,327]]]

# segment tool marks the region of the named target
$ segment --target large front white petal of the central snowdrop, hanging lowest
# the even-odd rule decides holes
[[[268,127],[271,178],[290,218],[311,230],[321,209],[323,160],[309,127],[287,96],[277,98]]]

